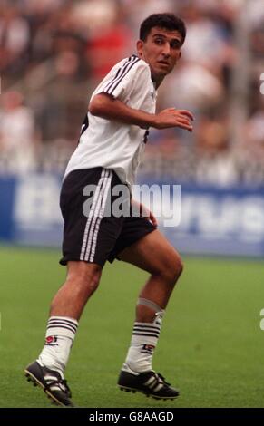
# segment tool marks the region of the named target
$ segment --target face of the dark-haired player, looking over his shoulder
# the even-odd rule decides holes
[[[182,37],[178,31],[154,26],[145,42],[139,40],[139,56],[149,63],[154,81],[161,82],[181,58]]]

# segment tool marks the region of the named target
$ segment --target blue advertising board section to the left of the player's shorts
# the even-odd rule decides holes
[[[63,235],[61,180],[48,174],[0,179],[0,241],[58,247]]]

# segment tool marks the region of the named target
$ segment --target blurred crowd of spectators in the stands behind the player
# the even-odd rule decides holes
[[[263,185],[263,0],[2,0],[1,174],[64,171],[95,85],[158,12],[188,29],[158,108],[188,109],[195,123],[191,134],[152,129],[142,173]]]

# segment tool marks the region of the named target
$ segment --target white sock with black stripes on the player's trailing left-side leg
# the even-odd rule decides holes
[[[48,320],[45,343],[37,362],[64,378],[64,369],[73,345],[78,321],[67,316],[51,316]]]

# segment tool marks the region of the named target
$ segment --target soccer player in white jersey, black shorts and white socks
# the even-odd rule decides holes
[[[60,263],[67,265],[67,278],[51,305],[44,349],[25,369],[27,379],[59,405],[73,406],[64,369],[83,308],[99,285],[106,260],[114,258],[150,273],[137,301],[131,345],[118,385],[164,400],[179,395],[152,370],[152,355],[164,310],[181,276],[181,257],[142,205],[141,216],[103,213],[107,200],[113,203],[116,199],[112,193],[117,185],[132,193],[150,127],[192,131],[190,111],[155,112],[156,91],[181,58],[185,35],[185,24],[172,14],[150,15],[142,22],[137,55],[117,63],[93,92],[79,144],[65,171]],[[84,214],[83,194],[88,195],[84,188],[91,185],[93,202]],[[133,202],[131,196],[131,211]]]

